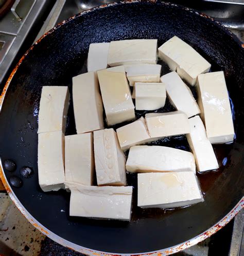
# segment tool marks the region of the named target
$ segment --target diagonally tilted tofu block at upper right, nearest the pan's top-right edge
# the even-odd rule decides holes
[[[169,39],[158,50],[160,59],[166,62],[172,71],[177,71],[190,85],[195,85],[197,76],[211,68],[208,61],[177,36]]]

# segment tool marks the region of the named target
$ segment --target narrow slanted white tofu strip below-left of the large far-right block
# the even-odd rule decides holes
[[[198,172],[219,168],[212,144],[206,136],[204,124],[199,116],[189,119],[190,133],[186,135],[196,159]]]

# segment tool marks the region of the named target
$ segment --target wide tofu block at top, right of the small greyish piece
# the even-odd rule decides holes
[[[157,43],[156,39],[112,41],[108,64],[110,67],[136,63],[156,64]]]

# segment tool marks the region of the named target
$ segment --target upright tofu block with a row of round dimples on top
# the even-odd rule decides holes
[[[126,185],[126,158],[113,129],[95,131],[94,156],[98,185]]]

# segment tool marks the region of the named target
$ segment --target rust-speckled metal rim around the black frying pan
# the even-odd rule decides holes
[[[7,89],[11,83],[11,80],[14,76],[14,74],[16,73],[16,71],[18,70],[19,66],[21,65],[22,61],[25,59],[25,57],[32,51],[33,47],[35,47],[36,44],[38,44],[43,38],[45,38],[46,36],[48,36],[49,34],[52,34],[56,29],[58,29],[59,27],[61,27],[62,25],[71,22],[73,19],[77,18],[77,17],[81,17],[82,15],[85,15],[86,13],[89,13],[91,11],[95,11],[96,9],[101,9],[104,7],[108,7],[108,6],[113,6],[113,5],[120,5],[120,4],[132,4],[132,3],[152,3],[152,4],[162,4],[162,5],[170,5],[170,6],[176,6],[178,8],[182,8],[183,10],[186,11],[190,11],[190,12],[195,12],[195,14],[200,15],[201,17],[211,20],[213,23],[215,23],[215,25],[219,26],[221,29],[223,29],[225,31],[225,33],[228,33],[239,45],[240,48],[242,47],[244,49],[244,44],[237,38],[237,36],[235,36],[230,30],[228,30],[227,28],[225,28],[222,24],[220,24],[219,22],[215,21],[213,18],[207,16],[204,13],[198,12],[195,9],[191,9],[182,5],[178,5],[178,4],[172,4],[172,3],[166,3],[166,2],[155,2],[154,0],[148,0],[148,1],[144,1],[144,0],[128,0],[128,1],[124,1],[124,2],[119,2],[119,3],[110,3],[107,5],[101,5],[98,7],[94,7],[92,9],[80,12],[78,14],[75,14],[73,17],[70,17],[64,21],[62,21],[61,23],[57,24],[54,28],[50,29],[49,31],[47,31],[47,33],[45,33],[40,39],[38,39],[30,48],[29,50],[27,50],[27,52],[22,56],[22,58],[19,60],[18,64],[15,66],[15,68],[13,69],[13,71],[11,72],[5,86],[3,89],[2,94],[0,95],[0,114],[1,114],[1,109],[2,109],[2,105],[5,99],[5,95],[7,92]],[[230,222],[230,220],[232,218],[234,218],[238,212],[244,208],[244,197],[241,198],[241,200],[235,205],[235,207],[228,213],[226,214],[221,220],[219,220],[214,226],[212,226],[210,229],[206,230],[205,232],[189,239],[186,242],[182,242],[181,244],[169,247],[169,248],[165,248],[165,249],[160,249],[160,250],[156,250],[156,251],[151,251],[151,252],[137,252],[137,253],[131,253],[131,254],[127,254],[127,253],[113,253],[113,252],[103,252],[103,251],[97,251],[97,250],[93,250],[93,249],[89,249],[77,244],[74,244],[72,242],[67,241],[66,239],[58,236],[57,234],[49,231],[47,228],[45,228],[39,221],[37,221],[26,209],[25,207],[22,205],[22,203],[19,201],[18,197],[16,197],[16,195],[14,194],[11,186],[9,185],[4,170],[3,170],[3,165],[2,165],[2,159],[0,158],[0,178],[3,181],[3,184],[5,186],[5,189],[7,191],[7,193],[9,194],[11,200],[14,202],[14,204],[16,205],[16,207],[18,207],[18,209],[20,210],[20,212],[28,219],[28,221],[35,227],[37,228],[40,232],[42,232],[43,234],[45,234],[46,236],[48,236],[50,239],[52,239],[53,241],[69,248],[75,251],[79,251],[82,252],[84,254],[94,254],[97,256],[100,255],[165,255],[165,254],[172,254],[172,253],[176,253],[179,252],[181,250],[184,250],[190,246],[196,245],[197,243],[203,241],[204,239],[206,239],[207,237],[210,237],[212,234],[216,233],[218,230],[220,230],[222,227],[224,227],[227,223]]]

